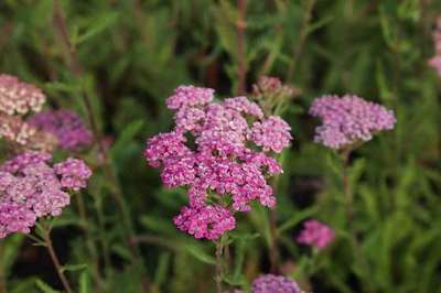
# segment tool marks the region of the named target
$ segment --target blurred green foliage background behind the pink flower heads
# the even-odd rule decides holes
[[[0,1],[0,72],[35,83],[50,106],[83,117],[87,93],[112,142],[118,181],[95,173],[83,194],[86,236],[75,200],[53,232],[75,292],[97,292],[93,260],[103,292],[141,292],[143,278],[154,292],[213,292],[213,245],[173,226],[185,194],[161,186],[142,159],[144,140],[172,126],[164,100],[176,86],[228,97],[250,93],[262,75],[301,91],[283,115],[295,138],[277,189],[283,273],[306,292],[441,292],[441,78],[427,65],[440,1],[64,0],[60,11],[71,47],[53,1]],[[346,93],[381,102],[398,120],[352,158],[354,226],[367,268],[354,261],[335,154],[313,143],[318,121],[308,115],[314,97]],[[82,155],[97,161],[94,150]],[[125,245],[115,186],[142,264]],[[266,217],[263,209],[239,217],[226,280],[236,287],[269,269]],[[318,254],[294,242],[311,217],[337,236]],[[0,253],[7,292],[62,289],[45,250],[22,236],[1,240]]]

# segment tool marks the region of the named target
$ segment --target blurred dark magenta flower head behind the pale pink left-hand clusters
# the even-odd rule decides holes
[[[62,149],[77,151],[92,143],[92,133],[79,116],[69,110],[45,110],[28,120],[36,129],[53,134]]]

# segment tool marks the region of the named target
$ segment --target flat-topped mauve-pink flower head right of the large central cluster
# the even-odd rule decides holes
[[[392,111],[351,95],[318,98],[310,113],[322,120],[314,140],[332,149],[368,141],[376,132],[391,130],[396,122]]]

